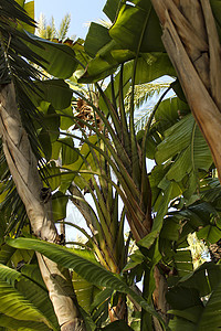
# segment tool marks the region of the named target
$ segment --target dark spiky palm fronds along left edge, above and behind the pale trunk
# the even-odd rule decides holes
[[[35,25],[34,21],[27,15],[25,11],[15,1],[2,1],[0,8],[0,85],[13,82],[21,120],[28,132],[32,150],[41,164],[41,147],[38,142],[34,127],[34,121],[40,120],[40,114],[30,96],[39,94],[34,81],[40,79],[39,71],[31,63],[40,65],[39,61],[43,61],[43,58],[32,52],[27,45],[27,42],[34,44],[36,42],[31,41],[22,30],[18,29],[19,21],[29,25]],[[2,170],[0,181],[1,183],[7,183],[3,189],[3,192],[7,192],[7,196],[0,205],[0,210],[8,215],[7,233],[13,228],[13,234],[17,235],[28,218],[24,205],[17,193],[8,170],[2,145],[0,146],[0,167]]]

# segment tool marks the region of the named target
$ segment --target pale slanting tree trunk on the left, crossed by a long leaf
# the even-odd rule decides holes
[[[12,83],[0,86],[0,136],[11,175],[25,205],[33,233],[39,238],[55,243],[57,232],[52,218],[51,199],[44,197],[45,189],[38,173],[36,159],[28,135],[21,124]],[[85,330],[74,303],[76,299],[69,271],[40,254],[38,260],[61,330]]]

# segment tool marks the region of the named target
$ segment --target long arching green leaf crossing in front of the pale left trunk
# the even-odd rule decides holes
[[[81,250],[70,252],[59,245],[30,238],[9,238],[7,243],[13,247],[30,247],[32,249],[35,249],[50,259],[56,261],[59,265],[74,269],[80,276],[85,278],[91,284],[112,288],[119,292],[125,292],[131,296],[131,298],[134,298],[150,314],[159,319],[158,313],[149,305],[147,305],[147,302],[141,297],[135,293],[122,279],[107,271],[99,264],[85,258],[83,252],[81,253]],[[164,325],[162,321],[161,323]]]

